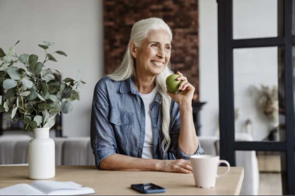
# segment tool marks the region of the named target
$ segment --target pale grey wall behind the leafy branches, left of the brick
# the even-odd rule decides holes
[[[88,136],[91,103],[96,82],[103,76],[103,8],[99,0],[0,0],[0,47],[7,51],[17,40],[16,52],[37,54],[44,59],[42,41],[55,42],[49,51],[61,50],[67,57],[55,54],[58,62],[47,61],[45,67],[58,69],[62,77],[76,78],[82,71],[85,88],[80,101],[63,115],[63,134]]]

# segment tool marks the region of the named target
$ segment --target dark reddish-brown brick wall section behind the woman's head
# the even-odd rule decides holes
[[[162,18],[172,29],[171,65],[196,88],[199,100],[199,22],[197,0],[104,0],[104,73],[122,61],[132,25],[145,18]]]

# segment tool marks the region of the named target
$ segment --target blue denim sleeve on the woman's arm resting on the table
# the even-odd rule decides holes
[[[90,140],[94,153],[95,165],[109,155],[115,154],[117,144],[112,124],[109,123],[109,100],[106,91],[106,82],[101,79],[94,88],[91,110]]]

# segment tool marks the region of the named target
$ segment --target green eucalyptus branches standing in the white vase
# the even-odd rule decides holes
[[[81,71],[78,70],[77,80],[65,78],[60,81],[60,72],[44,68],[47,61],[57,60],[53,54],[67,56],[63,51],[49,53],[47,50],[53,42],[44,41],[39,44],[45,51],[44,61],[38,61],[35,54],[18,56],[15,47],[9,47],[7,53],[0,48],[0,87],[5,89],[5,96],[0,96],[0,113],[7,112],[10,120],[22,120],[24,130],[35,128],[51,128],[55,124],[55,116],[69,113],[73,110],[71,104],[80,100],[78,87],[85,84],[81,81]],[[16,63],[22,63],[25,68],[19,68]]]

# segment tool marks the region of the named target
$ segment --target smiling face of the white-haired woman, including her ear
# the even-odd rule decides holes
[[[171,40],[166,30],[151,30],[142,41],[141,47],[131,44],[131,52],[136,62],[136,72],[155,76],[168,65],[171,56]]]

